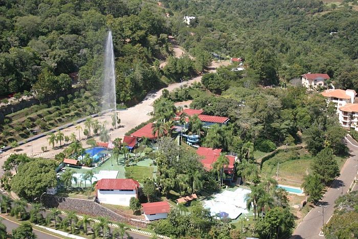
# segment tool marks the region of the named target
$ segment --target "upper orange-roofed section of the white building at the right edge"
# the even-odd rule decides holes
[[[321,95],[326,98],[327,103],[333,102],[338,111],[339,107],[354,103],[356,93],[354,90],[329,89],[322,92]]]

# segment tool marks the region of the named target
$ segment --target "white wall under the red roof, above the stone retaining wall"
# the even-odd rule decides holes
[[[130,198],[136,198],[136,190],[133,191],[100,191],[97,190],[97,198],[100,203],[129,206]]]

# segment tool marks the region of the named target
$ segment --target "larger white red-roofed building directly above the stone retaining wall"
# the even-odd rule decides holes
[[[96,197],[100,203],[129,206],[131,198],[138,198],[139,187],[133,179],[101,179],[96,183]]]

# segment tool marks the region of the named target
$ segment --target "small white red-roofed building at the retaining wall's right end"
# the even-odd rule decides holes
[[[166,219],[170,211],[168,202],[142,203],[145,220]]]

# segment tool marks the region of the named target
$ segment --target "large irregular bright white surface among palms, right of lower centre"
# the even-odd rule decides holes
[[[246,208],[245,196],[251,191],[238,188],[235,191],[225,190],[215,194],[214,199],[204,201],[204,207],[210,209],[213,216],[220,212],[229,214],[229,218],[236,219],[241,213],[249,213]]]

